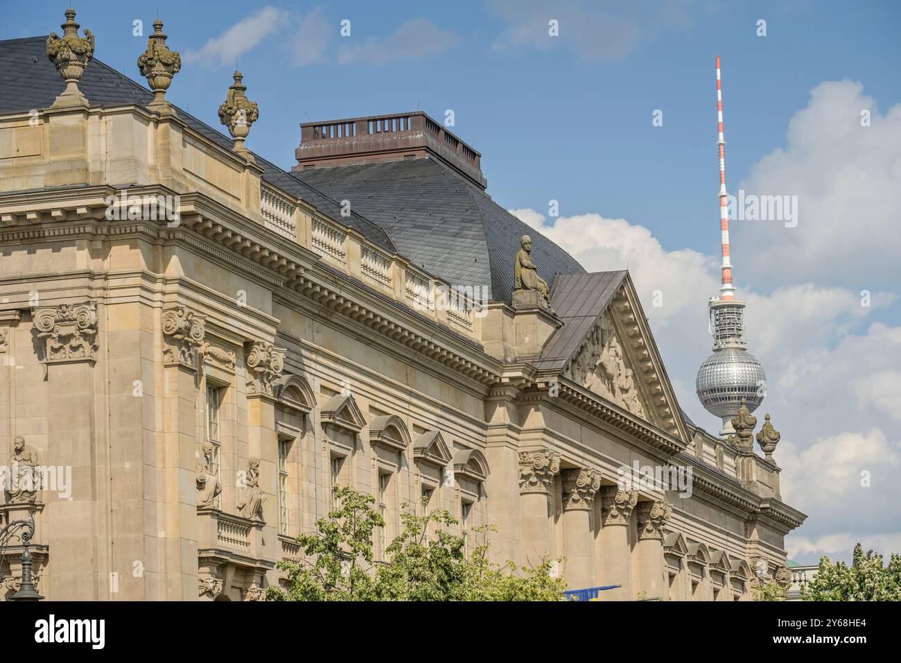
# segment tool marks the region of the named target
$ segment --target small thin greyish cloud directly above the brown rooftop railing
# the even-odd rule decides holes
[[[354,34],[351,32],[351,34]],[[460,41],[452,31],[443,31],[431,21],[414,18],[401,25],[386,38],[369,37],[362,43],[351,36],[342,41],[338,51],[341,64],[385,64],[396,60],[417,60],[446,51]]]

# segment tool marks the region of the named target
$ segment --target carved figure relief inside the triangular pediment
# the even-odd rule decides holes
[[[607,401],[647,419],[633,370],[626,363],[623,345],[607,316],[591,330],[585,345],[569,364],[569,378]]]

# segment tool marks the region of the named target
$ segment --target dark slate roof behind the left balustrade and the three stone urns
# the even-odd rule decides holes
[[[46,108],[65,87],[66,82],[47,57],[46,36],[0,41],[0,90],[3,91],[0,94],[0,114]],[[149,89],[96,58],[87,65],[78,87],[91,106],[128,104],[147,106],[153,100],[153,93]],[[230,137],[201,122],[187,111],[175,107],[178,118],[191,129],[226,150],[232,149],[233,142]],[[391,244],[385,231],[369,219],[359,214],[341,216],[341,206],[338,202],[322,191],[291,177],[285,170],[281,170],[258,154],[254,154],[254,157],[264,170],[263,180],[296,198],[304,199],[334,221],[343,226],[350,226],[371,242],[396,253],[396,248]]]

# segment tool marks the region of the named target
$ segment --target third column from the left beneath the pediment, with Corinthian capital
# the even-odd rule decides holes
[[[638,504],[638,493],[618,486],[601,488],[601,548],[604,551],[602,585],[621,585],[601,593],[609,601],[629,601],[632,592],[632,547],[629,543],[629,523]]]

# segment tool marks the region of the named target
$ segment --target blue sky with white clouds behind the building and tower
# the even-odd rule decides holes
[[[62,4],[3,5],[0,38],[59,32]],[[136,79],[154,8],[76,7],[96,58]],[[286,169],[301,122],[453,110],[499,204],[589,270],[630,268],[680,404],[710,429],[694,377],[718,280],[721,55],[730,191],[800,206],[795,228],[733,224],[750,349],[769,378],[758,414],[783,432],[784,496],[810,514],[789,552],[901,551],[901,4],[221,0],[159,2],[159,15],[183,59],[168,98],[218,127],[239,67],[260,106],[248,145]]]

